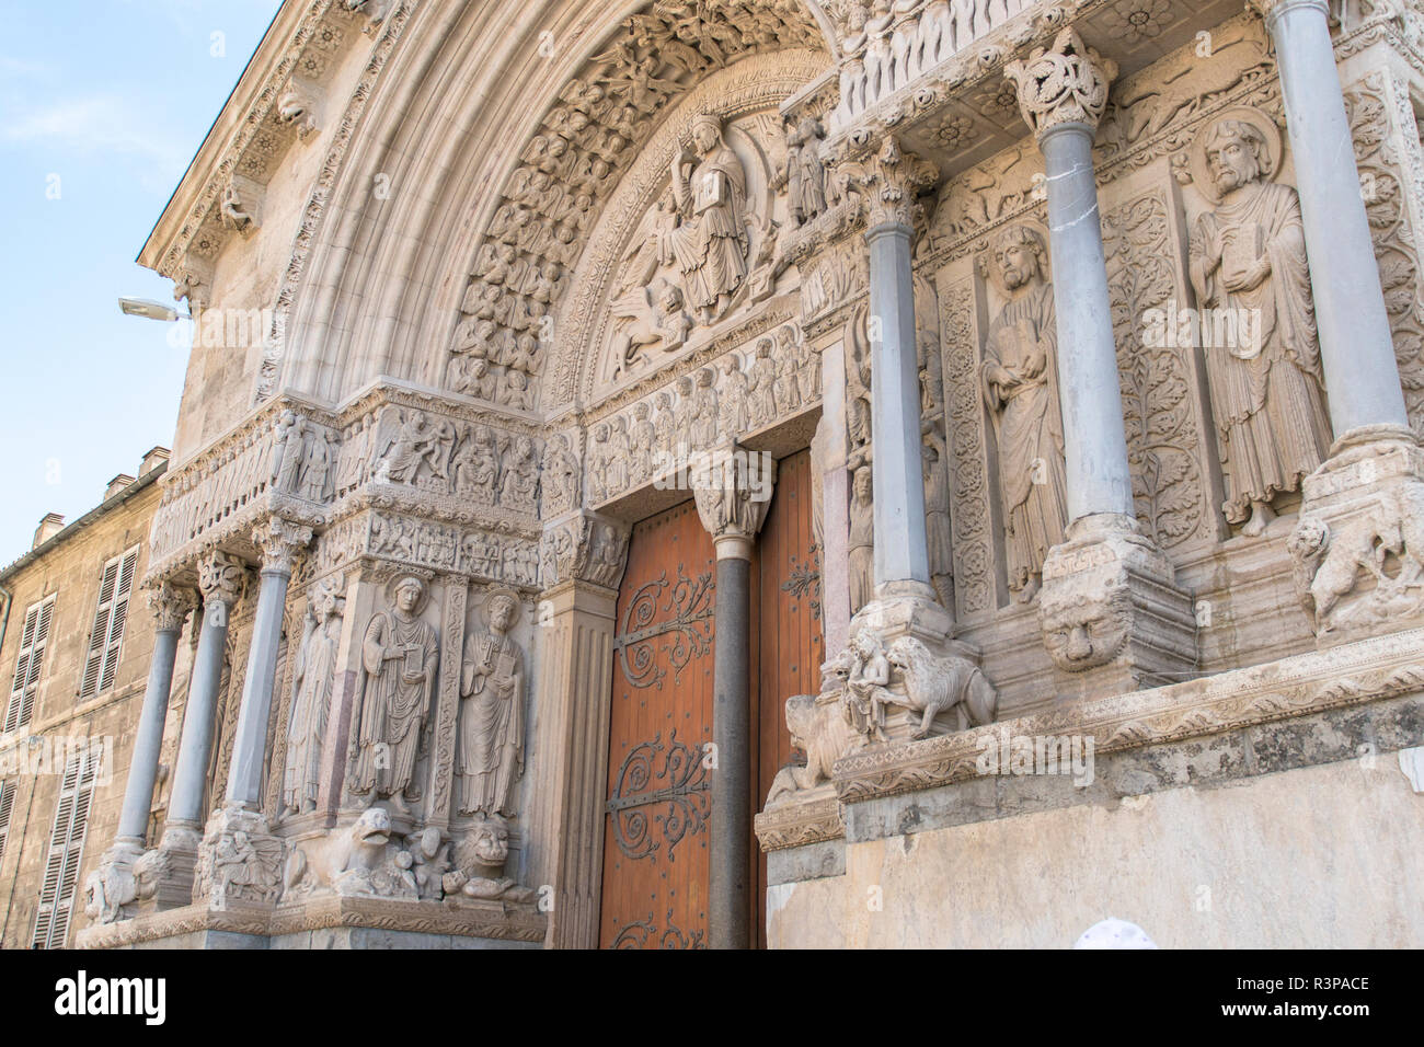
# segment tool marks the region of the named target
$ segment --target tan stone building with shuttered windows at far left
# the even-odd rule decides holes
[[[68,527],[44,517],[0,571],[0,942],[73,944],[80,897],[118,825],[154,623],[140,581],[168,450],[114,477]],[[181,701],[187,670],[179,671]],[[181,705],[174,714],[181,719]],[[171,745],[177,744],[177,736]],[[169,758],[171,759],[171,758]],[[145,815],[161,825],[165,789]]]

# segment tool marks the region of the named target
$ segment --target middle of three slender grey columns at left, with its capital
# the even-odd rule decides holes
[[[202,796],[212,756],[212,732],[218,712],[218,685],[228,644],[228,621],[242,593],[242,561],[226,553],[211,553],[198,564],[198,588],[202,593],[202,627],[198,654],[194,657],[188,707],[184,711],[178,766],[168,801],[168,825],[164,842],[174,832],[198,833],[204,823]]]

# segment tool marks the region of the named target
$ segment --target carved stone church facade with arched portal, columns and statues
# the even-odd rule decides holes
[[[283,4],[81,944],[1420,944],[1421,105],[1414,0]]]

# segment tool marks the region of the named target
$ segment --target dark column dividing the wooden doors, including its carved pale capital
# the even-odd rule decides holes
[[[770,456],[732,449],[713,481],[695,491],[698,516],[716,548],[712,655],[712,818],[708,885],[709,944],[749,949],[752,939],[752,556],[776,481]]]

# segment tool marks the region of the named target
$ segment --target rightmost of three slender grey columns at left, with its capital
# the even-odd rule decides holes
[[[262,571],[228,773],[228,803],[246,811],[256,811],[262,803],[262,769],[266,764],[268,719],[276,685],[286,588],[296,556],[312,541],[312,528],[272,517],[256,526],[252,541],[262,551]]]

